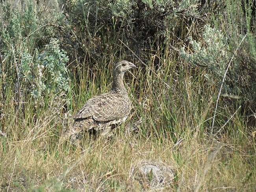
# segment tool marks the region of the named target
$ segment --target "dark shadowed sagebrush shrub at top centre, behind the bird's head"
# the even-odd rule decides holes
[[[69,21],[82,39],[77,44],[79,55],[85,54],[88,61],[101,57],[102,52],[122,55],[119,39],[137,55],[145,54],[144,49],[149,54],[159,51],[169,40],[180,43],[185,34],[180,28],[184,20],[190,23],[198,17],[199,5],[196,0],[63,0]]]

